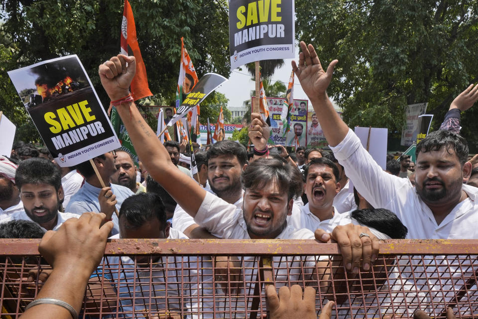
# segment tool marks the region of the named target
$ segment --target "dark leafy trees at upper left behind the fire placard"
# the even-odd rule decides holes
[[[5,0],[3,32],[14,51],[0,48],[0,107],[23,110],[7,70],[77,54],[105,107],[98,65],[118,54],[124,0]],[[229,77],[227,0],[131,1],[136,33],[153,94],[174,105],[181,37],[198,76]],[[212,31],[213,30],[213,31]],[[1,39],[1,36],[0,36]],[[12,98],[15,96],[16,98]],[[26,116],[26,115],[25,115]],[[26,118],[18,119],[19,125]]]

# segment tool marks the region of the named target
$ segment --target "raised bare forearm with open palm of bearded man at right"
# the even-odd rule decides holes
[[[305,42],[301,41],[300,48],[302,52],[299,54],[299,66],[292,61],[292,68],[314,111],[320,114],[319,123],[327,142],[331,146],[337,146],[346,137],[349,127],[335,111],[326,91],[332,80],[334,67],[339,61],[330,62],[326,72],[312,44],[306,46]]]

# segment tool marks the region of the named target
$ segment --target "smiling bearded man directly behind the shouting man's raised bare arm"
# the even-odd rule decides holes
[[[212,192],[237,208],[242,208],[240,175],[247,165],[246,149],[234,141],[217,142],[208,150],[207,160],[207,179]],[[190,238],[211,238],[211,234],[179,205],[174,211],[173,225]]]

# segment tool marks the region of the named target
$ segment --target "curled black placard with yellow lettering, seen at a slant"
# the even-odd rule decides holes
[[[171,126],[179,119],[184,117],[189,111],[191,111],[196,105],[200,104],[211,92],[216,90],[218,86],[226,82],[224,76],[216,73],[205,74],[194,88],[186,95],[186,98],[181,103],[181,106],[176,110],[176,114],[173,115],[167,126]]]

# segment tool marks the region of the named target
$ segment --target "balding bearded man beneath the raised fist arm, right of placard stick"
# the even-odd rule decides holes
[[[137,169],[131,155],[117,150],[115,166],[116,172],[110,177],[112,183],[127,187],[135,194],[146,192],[146,187],[136,182]]]

